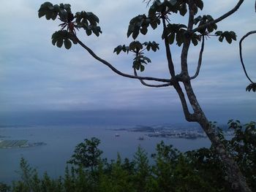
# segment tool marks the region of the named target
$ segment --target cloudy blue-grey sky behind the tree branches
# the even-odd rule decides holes
[[[181,102],[176,91],[169,88],[148,88],[138,80],[114,74],[103,64],[91,58],[79,45],[70,50],[51,44],[51,35],[59,30],[59,20],[38,18],[37,10],[44,1],[2,1],[0,7],[0,115],[5,118],[23,112],[74,112],[108,111],[135,112],[143,116],[184,120]],[[99,18],[102,34],[87,37],[78,31],[78,37],[100,57],[122,72],[132,74],[132,55],[113,54],[117,45],[129,44],[127,39],[129,20],[147,13],[142,0],[65,0],[53,4],[69,3],[72,12],[94,12]],[[220,15],[232,9],[236,1],[204,1],[198,15]],[[236,31],[237,38],[256,28],[254,3],[245,1],[238,12],[219,23],[220,31]],[[171,22],[187,24],[187,18],[171,15]],[[157,53],[146,53],[152,63],[146,66],[143,76],[169,78],[165,50],[162,46],[161,27],[148,30],[138,40],[156,41]],[[256,80],[256,37],[244,41],[246,69]],[[179,69],[181,48],[172,46],[173,61]],[[200,47],[189,50],[189,73],[194,74]],[[229,45],[217,38],[208,38],[203,55],[203,65],[193,88],[206,115],[211,120],[256,120],[256,93],[246,92],[249,85],[238,56],[238,42]],[[162,118],[161,118],[162,117]]]

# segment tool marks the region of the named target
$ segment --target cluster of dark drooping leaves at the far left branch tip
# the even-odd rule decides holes
[[[42,18],[43,16],[47,20],[56,20],[59,16],[59,20],[63,23],[59,25],[61,30],[52,35],[52,43],[57,47],[62,47],[64,44],[67,50],[72,46],[72,43],[78,43],[74,36],[76,29],[83,28],[88,36],[94,33],[99,37],[99,34],[102,33],[101,28],[97,26],[99,18],[94,13],[82,11],[76,12],[74,15],[70,4],[53,5],[50,2],[45,2],[38,10],[38,17]]]

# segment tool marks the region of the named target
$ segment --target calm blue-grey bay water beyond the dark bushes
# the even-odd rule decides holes
[[[39,174],[47,171],[52,177],[59,177],[64,173],[67,160],[75,149],[75,145],[85,138],[97,137],[101,140],[99,148],[103,150],[103,157],[116,159],[117,153],[122,158],[132,158],[140,145],[150,155],[155,152],[157,143],[161,140],[165,144],[173,145],[181,151],[193,150],[199,147],[209,147],[208,139],[164,139],[144,136],[144,140],[137,138],[146,133],[129,131],[112,131],[110,128],[131,128],[131,126],[34,126],[0,128],[0,135],[6,139],[28,139],[29,142],[45,142],[47,145],[28,148],[0,149],[0,182],[10,183],[19,176],[21,157],[37,168]],[[115,134],[120,137],[115,137]]]

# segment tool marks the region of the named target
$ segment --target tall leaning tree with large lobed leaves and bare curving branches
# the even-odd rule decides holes
[[[189,122],[197,122],[206,132],[206,135],[211,140],[214,150],[216,150],[222,162],[227,168],[228,180],[234,191],[251,191],[246,185],[246,180],[241,174],[238,165],[234,161],[233,157],[230,155],[225,145],[223,145],[222,140],[215,134],[215,129],[211,126],[211,123],[206,118],[202,108],[200,107],[197,97],[192,88],[192,80],[197,78],[200,73],[200,66],[202,64],[203,50],[205,45],[206,37],[216,36],[219,37],[219,42],[225,39],[228,43],[236,41],[236,34],[233,31],[217,31],[217,24],[222,20],[225,20],[230,15],[238,10],[243,4],[244,0],[239,0],[237,4],[221,15],[219,18],[212,18],[211,15],[198,15],[199,9],[203,9],[202,0],[155,0],[148,1],[148,5],[151,7],[148,9],[148,15],[138,15],[132,18],[129,22],[129,28],[127,31],[127,37],[132,36],[135,41],[131,42],[129,45],[118,45],[114,49],[114,53],[119,54],[124,53],[135,53],[135,58],[133,59],[132,68],[133,74],[126,74],[124,72],[116,69],[112,64],[104,59],[100,58],[94,53],[86,44],[80,41],[76,36],[76,31],[78,29],[83,29],[86,34],[90,36],[95,34],[97,37],[102,33],[101,28],[98,26],[99,18],[92,12],[76,12],[75,14],[71,11],[70,4],[51,4],[50,2],[45,2],[39,8],[39,18],[45,16],[47,20],[56,20],[58,17],[61,20],[61,29],[53,33],[52,43],[57,47],[62,47],[69,49],[72,44],[80,45],[83,47],[93,58],[102,64],[108,66],[113,72],[119,74],[123,77],[129,77],[132,79],[140,80],[143,85],[160,88],[160,87],[173,87],[178,93],[178,97],[181,100],[181,106],[184,111],[184,116]],[[181,16],[188,15],[188,24],[171,23],[170,14],[176,13]],[[196,15],[198,15],[196,17]],[[143,77],[138,76],[137,72],[143,72],[146,64],[151,63],[151,60],[144,55],[145,51],[153,50],[156,52],[159,50],[159,44],[157,42],[139,42],[139,34],[146,35],[148,28],[155,29],[162,26],[162,40],[165,43],[165,52],[167,58],[167,66],[170,73],[169,79],[156,78],[156,77]],[[214,33],[215,32],[215,33]],[[172,52],[170,47],[173,46],[174,42],[180,47],[181,50],[181,72],[178,73],[175,69],[175,64],[172,59]],[[190,45],[199,45],[200,53],[198,58],[197,70],[195,74],[189,74],[188,72],[188,53]],[[148,83],[146,82],[156,82]],[[253,84],[254,86],[255,84]],[[184,89],[182,89],[182,86]],[[248,89],[249,90],[249,89]],[[254,91],[254,88],[252,87]],[[187,102],[186,96],[189,103]],[[189,111],[189,105],[192,107],[192,112]]]

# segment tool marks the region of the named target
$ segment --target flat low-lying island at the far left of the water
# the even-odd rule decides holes
[[[0,149],[36,147],[46,145],[45,142],[29,142],[28,140],[0,140]]]

